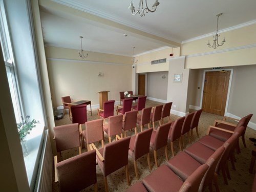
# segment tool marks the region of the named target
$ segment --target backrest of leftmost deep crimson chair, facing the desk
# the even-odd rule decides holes
[[[84,124],[87,122],[87,104],[71,106],[72,123]]]

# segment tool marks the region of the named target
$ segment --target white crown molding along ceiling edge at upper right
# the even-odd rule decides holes
[[[243,27],[250,26],[250,25],[253,25],[253,24],[256,24],[256,20],[251,20],[250,22],[246,22],[246,23],[243,23],[243,24],[240,24],[240,25],[237,25],[237,26],[233,26],[233,27],[229,27],[229,28],[226,28],[226,29],[218,30],[218,32],[223,33],[223,32],[227,32],[227,31],[232,31],[232,30],[243,28]],[[201,35],[201,36],[198,36],[198,37],[195,37],[195,38],[187,39],[187,40],[182,41],[181,44],[185,44],[187,42],[191,42],[191,41],[199,40],[199,39],[202,39],[202,38],[206,38],[206,37],[214,35],[215,33],[216,32],[212,32],[212,33]]]

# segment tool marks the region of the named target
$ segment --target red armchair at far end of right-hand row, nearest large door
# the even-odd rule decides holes
[[[244,135],[245,135],[246,127],[247,127],[247,125],[248,125],[252,115],[253,114],[249,114],[249,115],[246,115],[244,117],[245,121],[244,121],[244,124],[242,126],[245,127],[245,130],[244,130],[244,132],[241,135],[244,147],[246,147]],[[240,121],[242,118],[239,120],[239,119],[234,119],[234,118],[231,118],[231,117],[224,117],[223,121],[215,120],[214,126],[220,127],[222,129],[225,129],[225,130],[234,131],[234,129],[236,129],[236,124],[232,124],[232,123],[226,122],[227,119],[231,119],[231,120],[235,120],[235,121]]]

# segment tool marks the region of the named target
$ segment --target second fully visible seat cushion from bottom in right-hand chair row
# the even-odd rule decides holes
[[[207,159],[214,154],[214,151],[208,148],[207,146],[196,142],[193,145],[187,147],[185,152],[196,159],[199,163],[204,164]]]

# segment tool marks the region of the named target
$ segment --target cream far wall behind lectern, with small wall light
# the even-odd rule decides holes
[[[62,96],[70,95],[74,100],[87,99],[92,101],[92,105],[98,105],[98,91],[110,91],[109,100],[119,101],[120,91],[132,90],[130,57],[89,53],[87,59],[91,61],[75,60],[77,50],[53,47],[47,47],[46,50],[50,88],[55,109],[56,106],[62,104]],[[108,62],[103,62],[103,60]],[[123,64],[128,61],[130,64]],[[103,73],[102,77],[98,76],[99,72]]]

